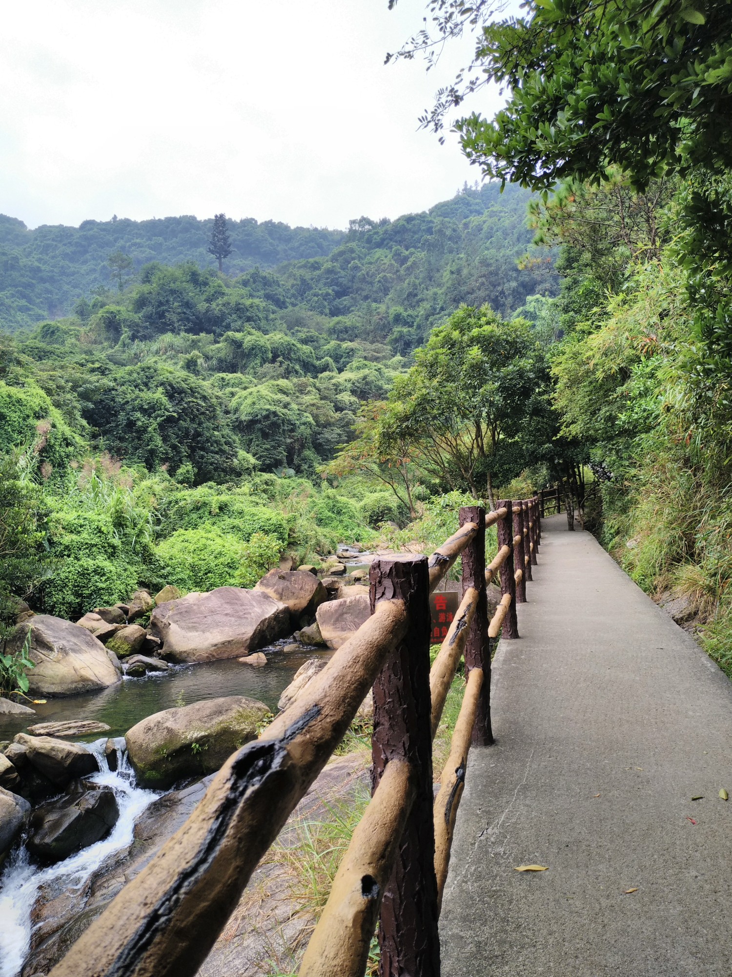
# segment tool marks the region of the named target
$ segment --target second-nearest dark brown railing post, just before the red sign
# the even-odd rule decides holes
[[[466,642],[466,677],[473,668],[483,669],[483,685],[472,728],[472,743],[488,746],[493,743],[491,732],[491,649],[488,641],[488,597],[485,590],[485,509],[479,505],[464,505],[460,510],[460,525],[475,523],[478,531],[463,550],[463,593],[468,587],[478,592],[477,607],[470,623]]]

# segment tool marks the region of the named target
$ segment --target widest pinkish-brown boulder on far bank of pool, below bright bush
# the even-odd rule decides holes
[[[290,627],[290,612],[263,590],[219,587],[155,608],[150,632],[172,661],[214,661],[256,652]]]

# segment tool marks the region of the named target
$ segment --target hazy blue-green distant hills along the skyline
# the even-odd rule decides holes
[[[352,221],[347,234],[273,221],[258,224],[251,218],[228,221],[231,253],[224,272],[236,277],[289,263],[275,305],[304,302],[328,316],[390,297],[389,305],[413,311],[427,306],[428,318],[430,312],[454,306],[466,289],[476,296],[491,294],[502,307],[515,308],[535,278],[518,273],[513,261],[530,240],[523,223],[525,198],[524,191],[509,189],[501,195],[498,185],[489,185],[437,204],[428,213],[396,221]],[[200,270],[214,269],[216,259],[207,250],[212,227],[213,219],[194,217],[141,222],[114,218],[84,221],[78,228],[28,231],[21,221],[0,216],[0,328],[13,331],[59,319],[79,299],[97,298],[99,308],[100,301],[109,301],[110,289],[124,286],[150,263],[187,262]],[[129,268],[111,270],[108,260],[115,254]],[[329,255],[332,259],[324,260]],[[243,284],[257,294],[251,279]],[[400,289],[391,295],[397,284]],[[435,289],[444,296],[435,295]],[[83,313],[83,303],[81,308]]]

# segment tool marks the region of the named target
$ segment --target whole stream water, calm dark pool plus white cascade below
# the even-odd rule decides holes
[[[265,648],[267,664],[263,668],[240,664],[235,658],[180,665],[144,678],[125,678],[102,692],[34,705],[36,715],[0,718],[0,741],[12,740],[17,733],[39,722],[97,719],[106,723],[110,731],[102,739],[86,738],[100,765],[100,772],[89,779],[110,786],[119,806],[119,819],[106,838],[56,865],[48,868],[33,865],[22,845],[11,853],[0,874],[0,977],[20,974],[30,944],[33,906],[41,887],[61,880],[68,891],[79,890],[106,858],[131,843],[136,821],[160,796],[136,786],[121,739],[124,734],[153,712],[221,696],[248,696],[276,711],[282,691],[307,658],[332,654],[312,648],[284,652],[284,647],[291,642],[290,638]],[[103,756],[107,737],[120,738],[116,772],[107,768]]]

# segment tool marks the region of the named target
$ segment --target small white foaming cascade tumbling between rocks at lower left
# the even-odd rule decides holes
[[[87,744],[100,767],[100,772],[88,780],[112,788],[119,806],[117,823],[102,841],[47,869],[38,869],[30,863],[24,845],[13,853],[0,875],[0,977],[18,977],[20,973],[30,947],[30,917],[41,886],[63,878],[68,891],[80,888],[104,859],[132,842],[135,822],[142,811],[160,796],[152,790],[135,786],[135,774],[127,759],[122,737],[114,742],[117,747],[116,771],[107,767],[105,744],[105,739]]]

